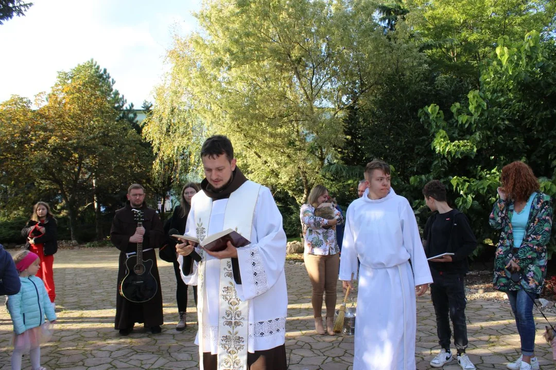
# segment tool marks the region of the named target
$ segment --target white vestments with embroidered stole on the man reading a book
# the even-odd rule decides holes
[[[186,283],[198,284],[201,369],[203,352],[218,355],[219,369],[246,369],[247,352],[285,342],[286,236],[270,190],[247,181],[229,199],[213,201],[198,192],[185,234],[202,240],[225,229],[251,241],[237,249],[242,284],[234,281],[231,259],[218,260],[200,249],[202,261],[193,275],[183,276]]]

